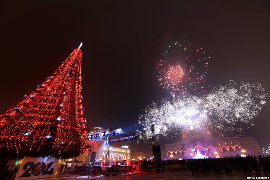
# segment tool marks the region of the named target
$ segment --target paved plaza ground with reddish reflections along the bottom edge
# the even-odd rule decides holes
[[[252,176],[255,176],[254,172],[251,172]],[[264,176],[264,172],[261,172],[261,175]],[[78,176],[77,174],[68,174],[68,175],[56,175],[57,178],[60,178],[59,180],[68,180],[69,178],[63,178],[63,176],[73,176],[70,179],[73,179],[74,176]],[[80,176],[76,177],[76,179],[80,180],[87,180],[88,176]],[[187,173],[179,173],[179,172],[172,172],[172,173],[147,173],[147,172],[140,172],[140,173],[134,173],[133,175],[128,175],[128,174],[123,174],[123,175],[117,175],[116,177],[108,177],[108,176],[98,176],[98,177],[89,177],[89,179],[112,179],[112,180],[169,180],[169,179],[188,179],[188,180],[193,180],[193,179],[204,179],[204,180],[210,180],[210,179],[219,179],[219,180],[233,180],[233,179],[247,179],[245,178],[244,172],[232,172],[232,174],[227,175],[225,172],[222,172],[222,174],[219,175],[214,175],[214,174],[206,174],[206,175],[192,175],[191,172]],[[57,179],[58,180],[58,179]]]

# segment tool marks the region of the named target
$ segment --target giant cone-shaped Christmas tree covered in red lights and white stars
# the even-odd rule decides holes
[[[89,150],[81,66],[79,47],[36,90],[0,116],[2,157],[70,158]]]

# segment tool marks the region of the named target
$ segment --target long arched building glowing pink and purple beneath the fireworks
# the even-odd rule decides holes
[[[188,135],[188,137],[187,137]],[[213,138],[209,131],[205,134],[182,134],[182,142],[165,144],[161,151],[162,160],[190,159],[198,151],[209,157],[231,157],[240,155],[262,155],[261,147],[252,137],[236,135],[232,137]]]

